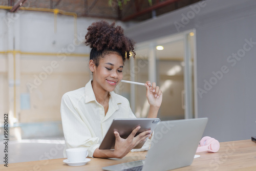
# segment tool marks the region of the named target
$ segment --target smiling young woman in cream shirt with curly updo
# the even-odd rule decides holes
[[[139,126],[126,139],[115,131],[115,149],[99,149],[113,119],[135,118],[129,101],[113,92],[122,80],[125,59],[129,59],[130,52],[134,53],[134,44],[133,40],[124,36],[120,26],[115,27],[114,22],[110,25],[101,21],[89,26],[86,45],[92,48],[89,68],[93,79],[84,88],[65,93],[61,100],[66,148],[88,148],[89,157],[122,158],[151,136],[151,131],[145,131],[135,137]],[[162,102],[162,91],[155,82],[152,87],[149,85],[151,82],[147,81],[146,98],[150,104],[148,118],[156,118]]]

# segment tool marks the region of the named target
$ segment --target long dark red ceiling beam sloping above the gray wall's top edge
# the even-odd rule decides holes
[[[180,1],[180,0],[166,0],[164,2],[157,2],[156,4],[154,4],[153,6],[151,6],[149,8],[146,8],[146,9],[144,9],[142,11],[139,11],[139,12],[137,12],[135,14],[132,14],[130,16],[127,16],[127,17],[123,18],[122,21],[123,22],[127,22],[127,21],[129,21],[129,20],[131,20],[133,18],[136,18],[137,16],[146,14],[148,12],[151,12],[153,10],[156,10],[158,8],[164,7],[166,5],[172,4],[172,3],[177,2],[177,1]]]

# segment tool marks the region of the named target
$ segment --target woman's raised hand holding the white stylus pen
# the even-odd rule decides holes
[[[151,87],[150,85],[151,82],[146,81],[145,86],[147,101],[148,103],[150,103],[151,106],[160,108],[163,99],[162,91],[159,89],[158,86],[156,86],[156,82],[153,82]]]

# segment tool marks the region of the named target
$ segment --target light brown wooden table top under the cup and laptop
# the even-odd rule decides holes
[[[63,162],[66,158],[9,163],[8,167],[0,165],[0,170],[31,171],[31,170],[102,170],[104,166],[145,159],[147,152],[131,152],[122,159],[90,158],[83,166],[69,166]],[[251,140],[221,142],[218,153],[197,153],[190,166],[175,170],[256,170],[256,143]]]

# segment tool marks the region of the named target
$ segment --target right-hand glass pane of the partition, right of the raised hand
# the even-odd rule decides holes
[[[184,42],[161,44],[157,50],[157,80],[163,92],[161,120],[184,119]]]

